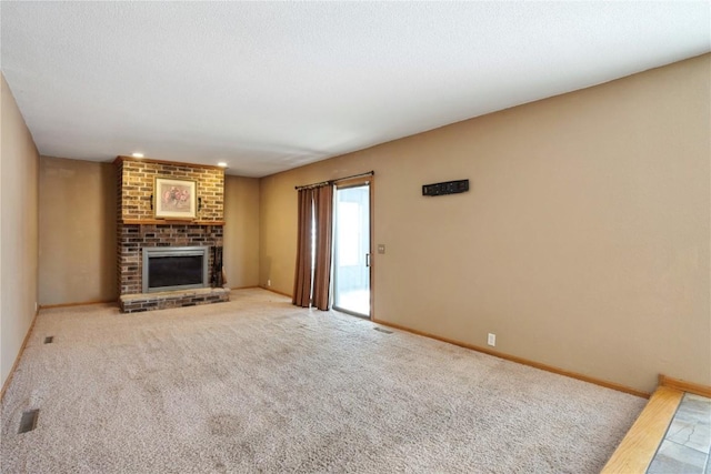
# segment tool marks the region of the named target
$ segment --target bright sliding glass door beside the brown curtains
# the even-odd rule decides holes
[[[336,189],[333,309],[370,317],[370,184]]]

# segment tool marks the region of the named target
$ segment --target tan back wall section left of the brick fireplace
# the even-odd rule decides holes
[[[40,158],[40,304],[114,301],[116,167]]]

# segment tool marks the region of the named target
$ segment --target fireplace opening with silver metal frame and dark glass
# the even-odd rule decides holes
[[[143,293],[208,286],[208,248],[143,249]]]

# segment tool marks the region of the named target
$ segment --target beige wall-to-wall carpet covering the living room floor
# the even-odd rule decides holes
[[[375,326],[262,290],[42,311],[2,404],[2,472],[593,473],[645,402]]]

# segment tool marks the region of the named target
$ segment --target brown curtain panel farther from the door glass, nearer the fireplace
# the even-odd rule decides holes
[[[293,299],[297,306],[311,304],[311,226],[313,225],[313,189],[299,190],[299,226],[297,240],[297,270],[293,279]]]

